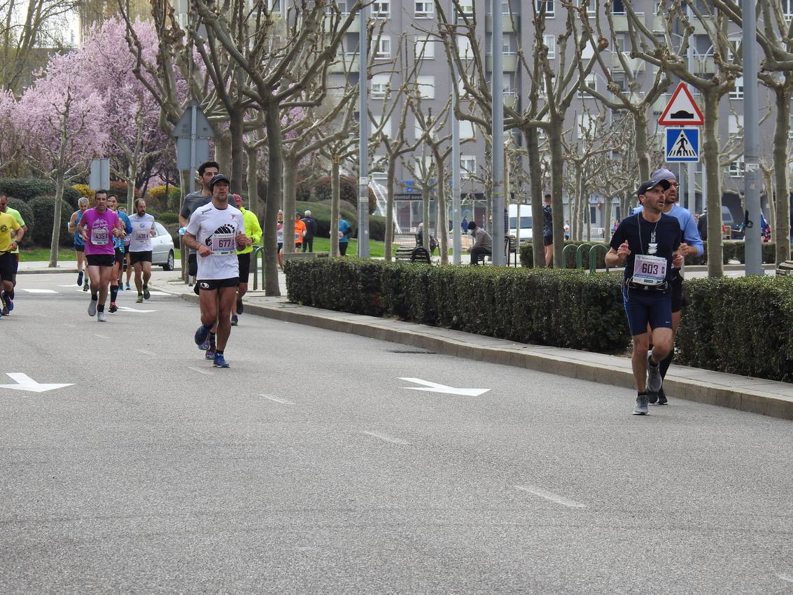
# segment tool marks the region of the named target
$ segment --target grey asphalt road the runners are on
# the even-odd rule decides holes
[[[21,275],[0,319],[0,382],[71,383],[0,389],[0,593],[793,592],[789,421],[634,417],[627,390],[250,314],[219,370],[195,305],[122,292],[148,311],[99,324],[69,282]]]

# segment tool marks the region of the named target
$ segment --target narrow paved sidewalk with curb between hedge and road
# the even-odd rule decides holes
[[[283,296],[267,298],[263,291],[249,292],[244,299],[245,313],[336,332],[349,332],[445,355],[541,370],[625,389],[634,387],[630,359],[626,357],[519,344],[448,328],[292,304],[286,301],[285,278],[280,271],[278,278]],[[159,290],[179,295],[186,301],[198,301],[193,288],[187,287],[179,279],[174,278],[169,282],[159,279],[156,285]],[[672,399],[686,399],[793,420],[793,384],[787,382],[672,366],[664,386]]]

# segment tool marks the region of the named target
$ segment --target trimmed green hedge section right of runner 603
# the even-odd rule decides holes
[[[684,288],[678,363],[793,381],[793,278],[696,278]]]

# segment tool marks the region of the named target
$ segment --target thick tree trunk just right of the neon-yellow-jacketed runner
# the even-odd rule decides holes
[[[278,209],[281,208],[283,152],[281,113],[278,103],[270,101],[265,110],[267,129],[267,148],[269,155],[270,179],[267,184],[267,200],[264,205],[264,292],[267,296],[281,295],[278,287],[278,244],[275,241],[275,228],[278,222]],[[284,231],[288,231],[286,228]],[[284,238],[287,234],[284,233]]]

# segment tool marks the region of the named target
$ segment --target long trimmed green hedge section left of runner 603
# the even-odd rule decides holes
[[[613,275],[354,258],[290,259],[285,272],[289,300],[317,308],[587,351],[630,345]]]

